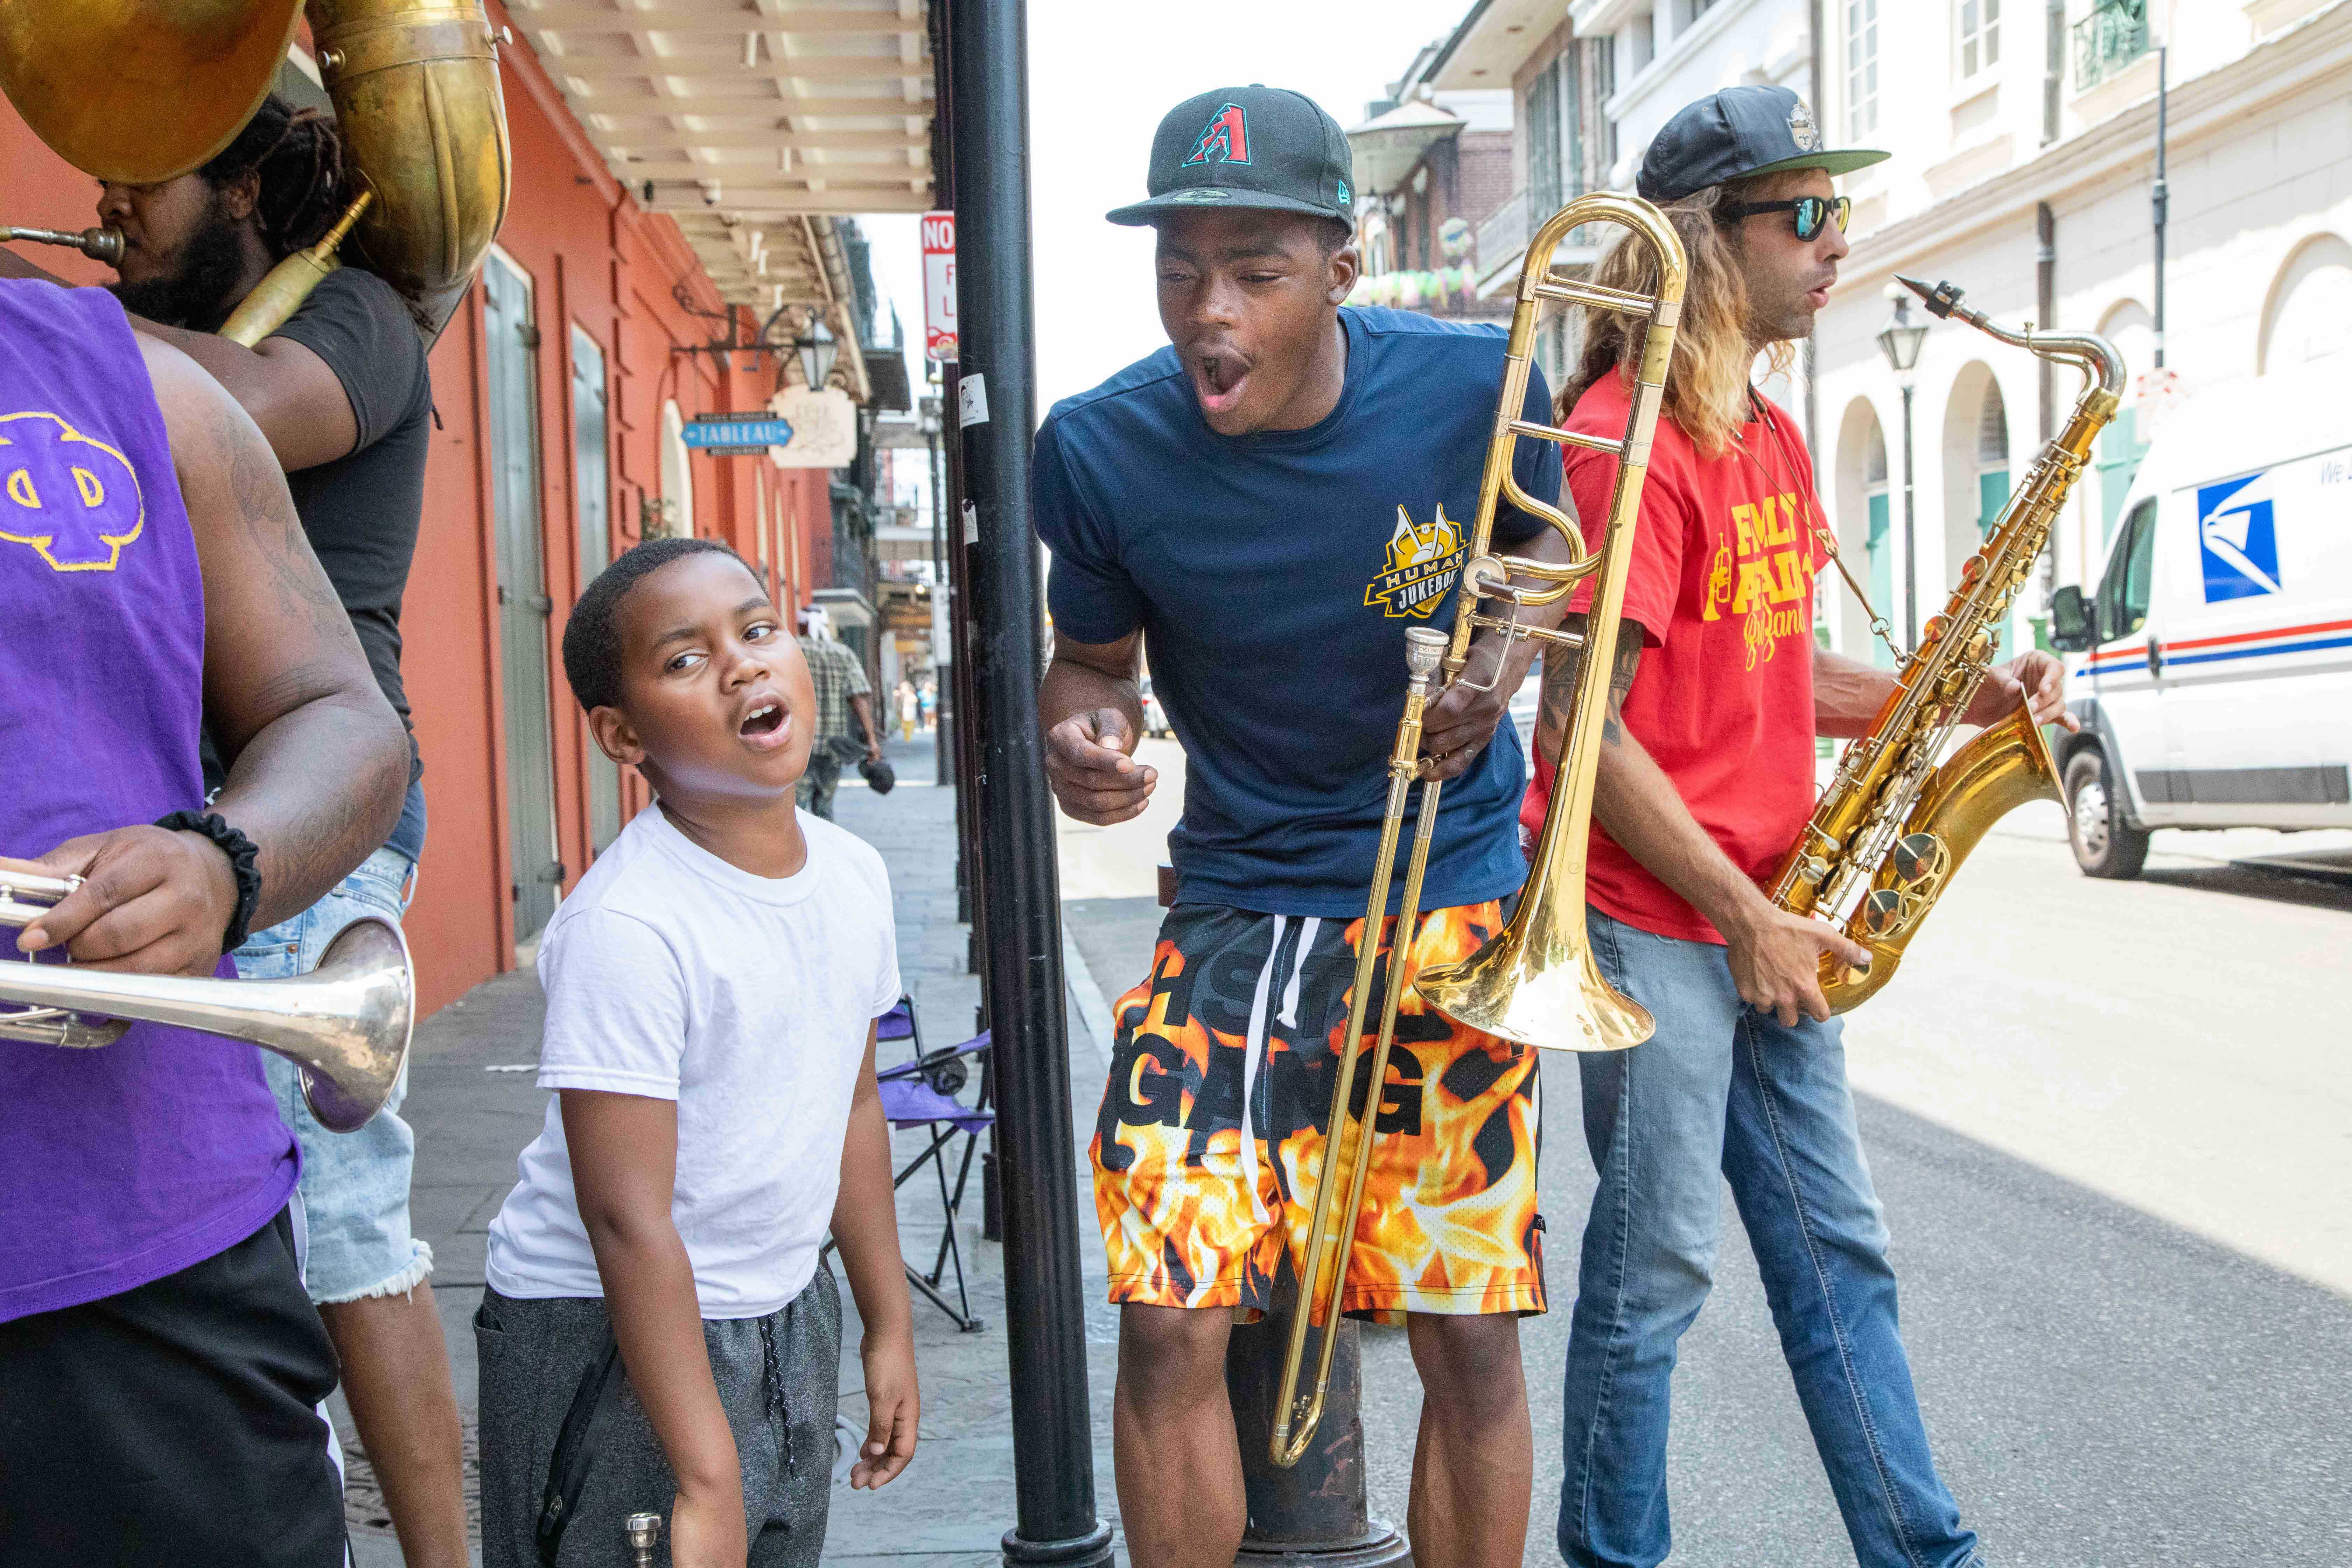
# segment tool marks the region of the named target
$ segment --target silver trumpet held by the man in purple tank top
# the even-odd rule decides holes
[[[0,926],[21,926],[73,891],[54,877],[0,872]],[[275,1051],[301,1067],[301,1095],[318,1124],[350,1133],[367,1124],[409,1056],[416,976],[400,926],[358,919],[306,976],[287,980],[200,980],[132,976],[78,964],[0,961],[0,1037],[94,1048],[132,1023],[202,1030]],[[89,1013],[108,1023],[89,1023]]]

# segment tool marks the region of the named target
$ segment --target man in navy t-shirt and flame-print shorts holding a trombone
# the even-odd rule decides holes
[[[1171,110],[1150,200],[1110,214],[1157,230],[1171,346],[1061,402],[1037,435],[1054,792],[1087,823],[1145,809],[1157,778],[1131,757],[1145,639],[1188,766],[1176,907],[1150,978],[1115,1009],[1091,1150],[1138,1568],[1225,1568],[1242,1540],[1225,1335],[1298,1272],[1338,1053],[1357,1046],[1352,950],[1392,938],[1362,924],[1406,630],[1451,623],[1503,378],[1494,327],[1341,308],[1357,277],[1348,181],[1345,136],[1301,94],[1232,87]],[[1545,404],[1538,376],[1524,416]],[[1550,451],[1519,456],[1522,489],[1557,498]],[[1517,510],[1496,538],[1538,559],[1566,550]],[[1409,973],[1468,957],[1524,877],[1524,759],[1496,724],[1526,646],[1472,644],[1430,708],[1421,776],[1454,783]],[[1374,1166],[1362,1222],[1341,1215],[1343,1307],[1411,1338],[1416,1561],[1517,1563],[1534,1483],[1517,1316],[1545,1305],[1536,1053],[1406,999],[1390,1067],[1359,1112]]]

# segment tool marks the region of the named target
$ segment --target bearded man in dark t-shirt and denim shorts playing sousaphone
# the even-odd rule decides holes
[[[278,261],[336,223],[350,197],[334,122],[273,94],[193,174],[153,186],[103,183],[99,221],[125,240],[111,292],[132,327],[212,371],[261,428],[376,684],[407,722],[400,599],[423,517],[433,418],[426,346],[409,306],[381,277],[346,263],[252,348],[214,336]],[[35,268],[0,252],[0,270]],[[212,745],[205,759],[207,785],[219,788]],[[421,771],[412,736],[397,827],[315,907],[252,933],[235,954],[247,980],[313,969],[362,914],[400,922],[423,853]],[[407,1084],[365,1128],[334,1135],[303,1105],[294,1065],[263,1060],[303,1143],[306,1284],[334,1335],[360,1443],[409,1563],[463,1568],[456,1396],[428,1284],[433,1253],[409,1232],[416,1140],[397,1114]]]

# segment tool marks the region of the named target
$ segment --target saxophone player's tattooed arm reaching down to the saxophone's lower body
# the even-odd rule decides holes
[[[1583,630],[1583,616],[1569,616],[1569,630]],[[1675,790],[1675,780],[1625,729],[1625,693],[1642,665],[1642,625],[1618,621],[1618,644],[1609,677],[1609,715],[1602,722],[1599,776],[1592,785],[1592,820],[1625,853],[1682,893],[1691,907],[1724,936],[1731,957],[1731,980],[1740,1001],[1776,1013],[1795,1025],[1797,1013],[1828,1018],[1820,994],[1820,952],[1830,950],[1849,964],[1867,954],[1816,919],[1785,914],[1717,846]],[[1566,724],[1569,698],[1576,691],[1578,654],[1548,649],[1543,665],[1543,712],[1536,719],[1538,745],[1557,755]],[[1555,783],[1557,788],[1557,783]]]

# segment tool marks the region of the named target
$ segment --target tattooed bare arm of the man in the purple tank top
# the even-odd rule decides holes
[[[179,350],[139,348],[205,578],[205,710],[230,762],[212,809],[261,851],[259,931],[390,837],[409,745],[254,421]],[[68,839],[40,865],[85,884],[24,929],[21,950],[66,943],[103,969],[212,973],[238,886],[205,835],[127,825]]]

